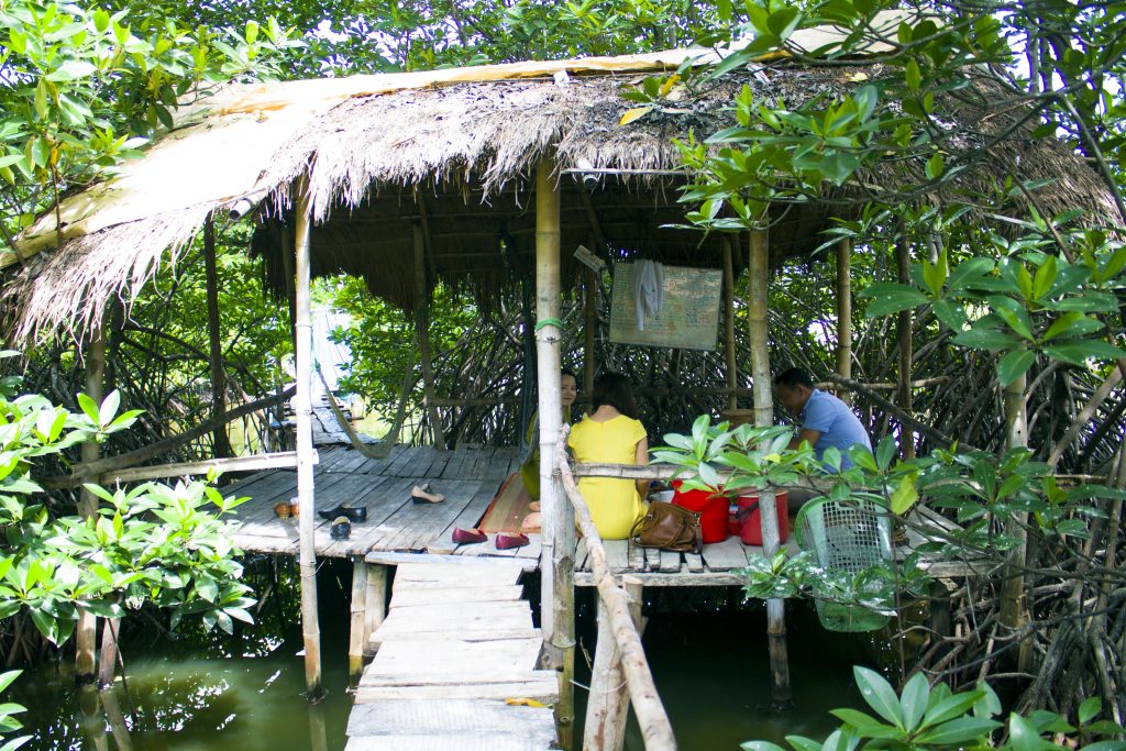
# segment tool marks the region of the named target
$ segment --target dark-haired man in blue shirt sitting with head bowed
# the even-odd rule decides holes
[[[808,441],[820,459],[825,449],[835,446],[841,453],[841,468],[852,466],[848,449],[856,444],[872,450],[872,440],[864,424],[852,413],[849,405],[828,392],[815,388],[813,378],[801,368],[787,368],[775,377],[775,391],[789,412],[802,421],[797,436],[789,441],[789,448],[797,448]],[[789,491],[789,508],[795,510],[808,500],[797,489]]]

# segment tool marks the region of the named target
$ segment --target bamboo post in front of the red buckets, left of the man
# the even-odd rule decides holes
[[[751,230],[748,262],[750,275],[751,377],[754,386],[754,424],[774,424],[774,395],[770,385],[770,350],[768,348],[767,287],[770,280],[770,244],[765,229]],[[762,555],[769,561],[780,546],[776,497],[771,489],[759,491],[759,518],[762,520]],[[786,649],[786,600],[767,600],[767,637],[770,650],[770,696],[777,709],[788,708],[792,694],[789,655]]]

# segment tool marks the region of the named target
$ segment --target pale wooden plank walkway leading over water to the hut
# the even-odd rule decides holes
[[[399,565],[387,617],[372,635],[378,652],[356,689],[346,751],[554,745],[558,679],[536,669],[543,638],[521,599],[524,569],[482,557]]]

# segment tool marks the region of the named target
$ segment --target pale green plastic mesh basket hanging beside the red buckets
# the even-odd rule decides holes
[[[812,501],[802,507],[796,526],[798,545],[826,572],[856,576],[892,560],[891,517],[873,501]],[[876,631],[890,617],[859,602],[817,599],[816,608],[821,625],[838,632]]]

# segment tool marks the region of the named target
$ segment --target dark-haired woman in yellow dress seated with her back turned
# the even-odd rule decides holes
[[[595,381],[595,411],[571,429],[568,446],[579,462],[647,464],[649,438],[637,420],[629,379],[606,373]],[[634,522],[645,515],[641,494],[647,480],[581,477],[582,493],[602,539],[626,539]]]

